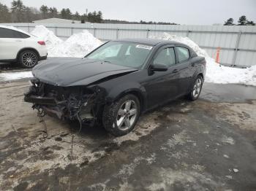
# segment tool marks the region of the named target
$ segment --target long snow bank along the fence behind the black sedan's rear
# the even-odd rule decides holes
[[[175,42],[181,42],[191,47],[197,55],[206,58],[206,82],[227,84],[243,84],[256,86],[256,66],[247,69],[231,68],[219,66],[213,58],[210,58],[207,52],[201,49],[195,42],[188,37],[176,36],[164,33],[162,36],[151,36],[152,39],[165,39]]]

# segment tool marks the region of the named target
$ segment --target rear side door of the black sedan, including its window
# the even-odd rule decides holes
[[[177,45],[175,47],[176,58],[177,58],[177,69],[179,71],[179,93],[184,95],[188,92],[189,85],[194,74],[194,69],[191,63],[189,49]]]

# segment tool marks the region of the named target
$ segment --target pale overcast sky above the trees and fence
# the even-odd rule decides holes
[[[12,0],[0,0],[10,7]],[[181,25],[212,25],[241,15],[256,23],[256,0],[23,0],[28,7],[42,4],[80,14],[100,10],[104,19],[156,21]]]

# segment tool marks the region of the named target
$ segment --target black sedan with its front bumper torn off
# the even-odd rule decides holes
[[[187,95],[196,100],[206,60],[187,45],[158,39],[110,41],[85,58],[53,58],[34,67],[25,101],[39,114],[94,125],[115,136],[140,114]]]

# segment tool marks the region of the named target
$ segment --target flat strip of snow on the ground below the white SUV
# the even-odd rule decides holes
[[[0,73],[0,81],[11,81],[15,79],[23,79],[23,78],[31,78],[31,77],[33,77],[31,71]]]

